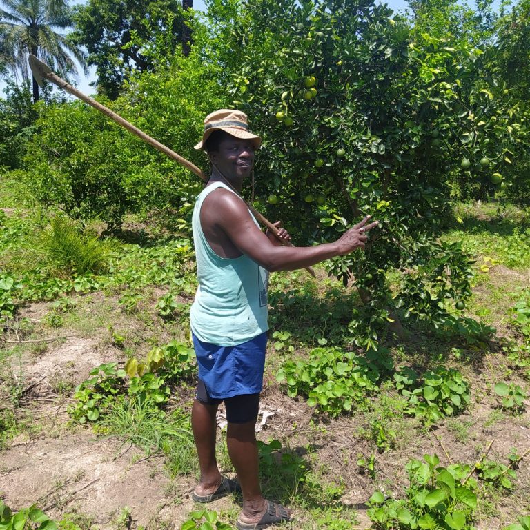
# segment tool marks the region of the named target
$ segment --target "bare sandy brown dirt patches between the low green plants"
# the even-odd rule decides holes
[[[43,313],[46,304],[26,309],[26,316],[35,320]],[[55,333],[61,335],[63,330]],[[97,333],[69,336],[21,355],[21,411],[39,428],[24,431],[0,452],[0,496],[12,509],[37,503],[52,518],[79,513],[86,518],[87,529],[101,530],[115,530],[120,524],[131,529],[178,529],[188,518],[194,509],[190,500],[193,476],[168,478],[162,456],[146,458],[120,440],[97,437],[89,428],[68,424],[66,408],[72,387],[85,380],[92,368],[119,360],[119,355],[120,351]],[[482,365],[498,367],[502,362],[502,356],[492,354]],[[281,393],[272,374],[265,378],[262,408],[274,415],[266,418],[259,438],[277,438],[300,455],[311,447],[329,477],[342,477],[345,488],[340,502],[357,511],[357,528],[367,529],[370,522],[364,502],[378,488],[389,495],[400,491],[399,487],[406,485],[404,465],[410,458],[437,453],[442,465],[473,464],[493,440],[488,458],[507,463],[512,448],[519,454],[530,449],[529,401],[522,415],[495,414],[488,377],[488,370],[476,374],[472,391],[475,401],[468,413],[446,419],[432,431],[418,430],[410,418],[400,420],[400,442],[394,449],[377,454],[375,480],[362,473],[356,463],[358,455],[371,451],[360,420],[355,415],[332,421],[315,417],[303,402]],[[66,383],[70,391],[63,393],[61,384]],[[500,529],[516,522],[518,514],[529,513],[529,461],[526,458],[520,465],[513,493],[495,500],[493,492],[492,500],[481,505],[478,529]],[[228,498],[211,508],[232,513],[239,509]],[[124,513],[125,522],[120,519]],[[306,514],[297,510],[290,527],[297,528],[302,522],[307,522]]]

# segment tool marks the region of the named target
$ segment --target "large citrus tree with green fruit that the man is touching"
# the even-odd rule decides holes
[[[381,223],[364,254],[329,266],[364,301],[350,324],[357,343],[375,347],[396,309],[446,322],[449,308],[464,307],[471,275],[460,246],[438,239],[449,179],[482,172],[483,158],[493,173],[502,156],[496,143],[482,150],[487,135],[478,143],[487,124],[477,109],[495,101],[479,79],[482,52],[413,34],[365,0],[228,6],[213,3],[210,14],[230,50],[235,105],[264,137],[256,190],[269,215],[297,244],[335,239],[363,215]],[[391,286],[395,270],[403,274]]]

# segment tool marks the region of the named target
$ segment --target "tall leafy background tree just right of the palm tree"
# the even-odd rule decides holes
[[[131,70],[150,70],[150,52],[164,39],[167,53],[181,46],[179,0],[88,0],[77,6],[70,39],[86,46],[98,90],[116,99]]]

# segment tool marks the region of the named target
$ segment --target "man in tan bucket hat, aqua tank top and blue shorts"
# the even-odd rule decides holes
[[[268,272],[304,268],[364,248],[365,232],[377,225],[366,224],[366,217],[337,241],[311,247],[282,246],[273,234],[264,234],[240,197],[260,144],[243,112],[222,109],[206,117],[202,141],[195,146],[208,153],[212,173],[193,213],[199,288],[190,316],[199,384],[192,427],[201,477],[192,497],[210,502],[240,489],[239,530],[291,519],[287,509],[263,497],[258,476],[254,428],[268,330]],[[291,239],[279,223],[275,226],[279,239]],[[240,487],[219,473],[215,459],[215,417],[222,401],[228,454]]]

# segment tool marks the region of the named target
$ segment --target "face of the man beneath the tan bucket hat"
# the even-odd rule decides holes
[[[210,153],[210,158],[225,177],[242,181],[254,166],[253,144],[227,134],[219,142],[219,150]]]

